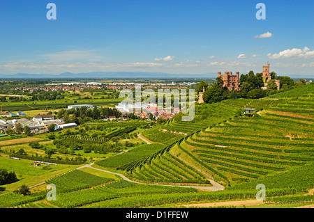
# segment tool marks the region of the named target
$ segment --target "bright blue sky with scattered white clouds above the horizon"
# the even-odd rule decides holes
[[[31,3],[30,3],[31,2]],[[47,3],[57,6],[48,20]],[[257,20],[256,4],[266,6]],[[256,36],[264,38],[256,38]],[[314,75],[314,3],[0,1],[0,73],[141,71]]]

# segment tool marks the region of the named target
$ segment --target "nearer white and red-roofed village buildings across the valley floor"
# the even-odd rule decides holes
[[[95,106],[91,104],[75,104],[69,105],[68,109],[80,109],[82,107],[94,109]],[[135,118],[142,118],[144,120],[170,120],[180,112],[179,109],[174,109],[173,107],[170,107],[170,109],[161,109],[158,108],[157,104],[146,104],[144,102],[135,103],[134,105],[120,102],[114,109],[121,112],[121,116],[101,116],[100,119],[104,121],[124,121],[131,118],[132,116],[129,114],[133,113]],[[7,134],[8,132],[19,134],[24,131],[24,127],[28,128],[30,134],[42,134],[52,131],[51,128],[49,129],[51,125],[54,125],[54,131],[77,127],[77,123],[66,123],[63,118],[56,118],[51,112],[37,114],[29,118],[23,111],[17,111],[17,113],[1,111],[0,134]]]

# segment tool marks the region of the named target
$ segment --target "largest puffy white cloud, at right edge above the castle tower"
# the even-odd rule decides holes
[[[285,49],[283,51],[278,52],[277,54],[267,54],[269,58],[314,58],[314,50],[310,51],[308,47],[304,47],[304,49]]]

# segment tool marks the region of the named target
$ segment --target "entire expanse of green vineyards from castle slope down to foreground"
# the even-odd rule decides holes
[[[143,129],[143,136],[158,143],[137,145],[96,161],[97,168],[123,172],[133,182],[73,170],[46,180],[46,184],[56,185],[57,200],[46,200],[45,191],[27,196],[3,193],[0,207],[181,207],[186,203],[252,200],[257,184],[266,187],[263,204],[311,204],[312,88],[309,84],[299,91],[260,100],[197,104],[193,122],[183,122],[177,116],[163,125]],[[249,118],[243,115],[244,107],[257,111]],[[115,136],[133,134],[142,126],[114,124],[107,127],[95,122],[89,126],[103,131],[101,136],[66,138],[77,144],[102,145]],[[224,189],[204,191],[204,187],[212,188],[216,183]]]

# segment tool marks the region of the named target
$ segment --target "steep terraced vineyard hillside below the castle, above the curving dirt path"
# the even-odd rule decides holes
[[[172,139],[173,144],[163,152],[130,165],[126,175],[147,182],[200,184],[215,180],[232,187],[311,164],[312,88],[313,84],[308,84],[260,100],[198,104],[193,122],[174,118],[160,127],[167,129],[163,134],[185,132],[177,136],[177,143]],[[257,108],[254,117],[239,115],[245,106]]]

